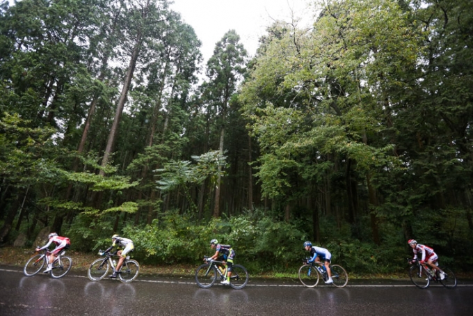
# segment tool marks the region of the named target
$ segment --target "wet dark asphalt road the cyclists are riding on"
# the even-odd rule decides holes
[[[214,285],[200,289],[192,278],[138,276],[123,284],[91,282],[74,271],[62,279],[26,277],[0,267],[0,315],[473,315],[473,284],[454,290],[408,282],[348,281],[337,289],[296,282],[255,281],[243,290]]]

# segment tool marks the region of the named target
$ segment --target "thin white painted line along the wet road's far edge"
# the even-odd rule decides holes
[[[6,272],[18,272],[18,273],[23,273],[23,271],[19,270],[11,270],[11,269],[0,269],[0,271],[6,271]],[[72,278],[88,278],[87,276],[77,276],[77,275],[70,275],[68,277]],[[184,284],[184,285],[195,285],[195,282],[182,282],[182,281],[159,281],[159,280],[139,280],[136,279],[134,282],[147,282],[147,283],[163,283],[163,284]],[[215,283],[215,285],[220,285],[219,283]],[[304,287],[303,285],[289,285],[289,284],[248,284],[248,286],[254,286],[254,287]],[[415,285],[412,284],[385,284],[385,285],[346,285],[346,287],[413,287]],[[331,285],[321,285],[313,288],[321,288],[321,287],[332,287]],[[346,288],[344,287],[344,288]],[[430,285],[429,287],[443,287],[443,285]],[[458,284],[456,287],[473,287],[473,284]],[[332,287],[335,288],[335,287]]]

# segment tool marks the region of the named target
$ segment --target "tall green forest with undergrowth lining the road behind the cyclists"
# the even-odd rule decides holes
[[[309,2],[203,61],[168,0],[0,0],[0,246],[387,273],[414,238],[471,271],[471,1]]]

